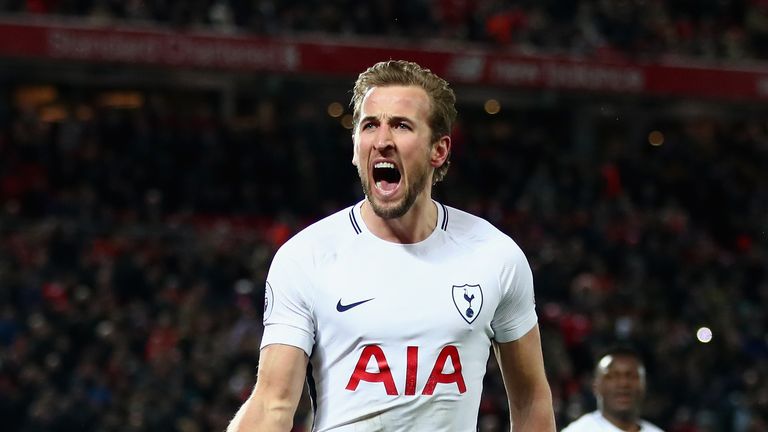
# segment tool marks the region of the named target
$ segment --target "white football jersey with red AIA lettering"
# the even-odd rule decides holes
[[[362,202],[301,231],[269,270],[262,348],[309,356],[313,430],[474,432],[491,341],[537,322],[523,252],[435,203],[415,244],[372,234]]]

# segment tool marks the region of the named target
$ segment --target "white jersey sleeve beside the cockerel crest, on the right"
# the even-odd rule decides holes
[[[494,340],[499,343],[520,339],[538,321],[533,294],[533,272],[523,251],[513,244],[513,251],[502,265],[501,301],[491,320]]]

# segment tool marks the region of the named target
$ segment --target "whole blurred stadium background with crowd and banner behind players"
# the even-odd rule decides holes
[[[766,431],[767,57],[764,0],[0,0],[2,429],[223,431],[273,252],[361,197],[352,82],[404,58],[459,96],[438,198],[528,254],[559,426],[623,341],[648,419]]]

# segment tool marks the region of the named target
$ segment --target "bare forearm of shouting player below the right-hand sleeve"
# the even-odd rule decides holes
[[[554,431],[552,392],[544,373],[539,326],[515,341],[494,343],[493,348],[509,400],[511,430]]]

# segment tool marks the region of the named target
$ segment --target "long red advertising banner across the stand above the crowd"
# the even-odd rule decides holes
[[[502,55],[491,50],[393,47],[134,28],[0,23],[0,57],[354,76],[390,58],[449,81],[604,93],[768,100],[768,65],[753,69]]]

